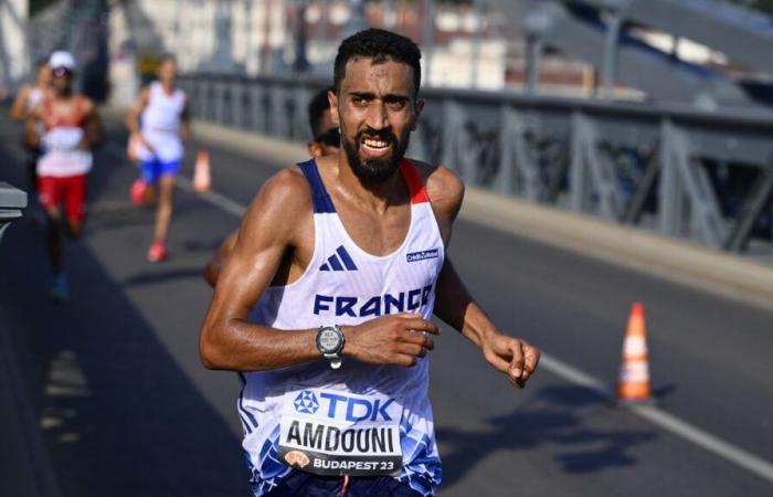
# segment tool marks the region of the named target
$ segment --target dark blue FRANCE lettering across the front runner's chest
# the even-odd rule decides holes
[[[346,297],[339,295],[315,295],[314,314],[317,316],[383,316],[419,310],[430,302],[432,285],[396,295],[384,294],[370,298]]]

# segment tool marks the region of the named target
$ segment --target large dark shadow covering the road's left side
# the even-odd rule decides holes
[[[23,178],[3,147],[0,159],[9,180]],[[94,186],[112,172],[95,171]],[[92,232],[104,221],[95,218]],[[43,233],[28,220],[8,230],[0,258],[0,332],[11,337],[64,495],[250,491],[241,441],[86,243],[66,245],[66,305],[46,298]]]

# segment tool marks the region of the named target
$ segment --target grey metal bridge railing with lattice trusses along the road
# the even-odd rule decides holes
[[[187,75],[195,117],[306,141],[328,82]],[[428,88],[412,157],[468,184],[773,257],[773,113]]]

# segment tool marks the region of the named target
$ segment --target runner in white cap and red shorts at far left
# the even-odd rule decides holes
[[[38,160],[38,191],[47,221],[49,257],[54,271],[51,296],[66,300],[62,232],[74,240],[81,236],[86,213],[86,175],[93,162],[91,148],[102,141],[103,131],[94,103],[73,93],[73,55],[54,52],[49,65],[52,89],[30,113],[27,134],[30,146],[42,150]]]

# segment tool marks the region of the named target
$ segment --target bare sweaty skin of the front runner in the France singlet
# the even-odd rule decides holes
[[[389,131],[398,140],[415,130],[423,101],[415,99],[412,70],[388,60],[349,61],[338,94],[330,94],[333,121],[342,140],[358,148],[360,160],[389,159],[399,144],[373,136]],[[371,141],[369,141],[371,140]],[[464,184],[451,170],[415,162],[445,246],[464,198]],[[363,182],[347,154],[318,159],[319,172],[348,234],[366,252],[380,256],[403,242],[411,219],[407,187],[394,172],[382,182]],[[212,369],[273,370],[319,360],[316,329],[277,330],[248,322],[247,315],[267,286],[296,281],[315,246],[311,194],[297,167],[269,179],[250,205],[202,326],[202,362]],[[287,257],[289,267],[280,272]],[[278,279],[278,281],[277,281]],[[472,299],[451,262],[436,287],[435,314],[478,346],[486,360],[523,387],[537,368],[539,351],[525,340],[502,335]],[[422,332],[424,331],[424,332]],[[413,366],[434,348],[440,328],[419,315],[382,316],[342,328],[342,353],[363,362]]]

